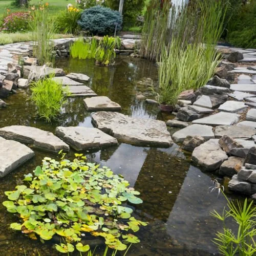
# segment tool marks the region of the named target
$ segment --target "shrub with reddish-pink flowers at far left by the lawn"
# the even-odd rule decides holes
[[[29,30],[31,15],[28,12],[13,12],[3,20],[2,30],[8,33]]]

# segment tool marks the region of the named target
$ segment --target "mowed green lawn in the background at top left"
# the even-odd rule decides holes
[[[33,5],[38,5],[40,1],[38,0],[31,0],[30,1],[30,6]],[[16,11],[26,11],[28,9],[21,9],[21,8],[16,8],[11,5],[12,0],[0,0],[0,18],[1,16],[7,12],[7,9],[11,10],[11,12],[16,12]],[[52,15],[57,15],[59,11],[65,10],[66,6],[68,4],[75,5],[75,0],[44,0],[41,3],[48,3],[49,4],[49,12]]]

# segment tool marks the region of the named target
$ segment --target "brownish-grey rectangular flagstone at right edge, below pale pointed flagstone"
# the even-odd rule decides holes
[[[226,135],[234,139],[250,139],[256,133],[253,127],[240,125],[220,125],[215,129],[215,137],[221,138]]]

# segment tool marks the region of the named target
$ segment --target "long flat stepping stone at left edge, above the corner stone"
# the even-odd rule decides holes
[[[50,132],[35,127],[12,125],[0,129],[0,136],[50,152],[69,151],[69,146]]]

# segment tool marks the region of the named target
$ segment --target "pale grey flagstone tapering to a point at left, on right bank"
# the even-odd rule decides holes
[[[220,112],[211,116],[203,117],[194,120],[192,123],[208,124],[212,126],[217,125],[232,125],[238,122],[239,116],[233,113]]]

